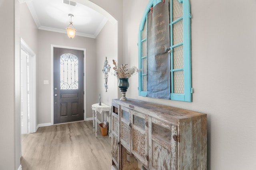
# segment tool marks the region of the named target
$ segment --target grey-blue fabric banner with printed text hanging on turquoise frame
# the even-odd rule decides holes
[[[160,2],[148,13],[147,96],[170,99],[169,4]]]

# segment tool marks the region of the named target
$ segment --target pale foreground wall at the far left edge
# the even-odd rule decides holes
[[[19,4],[0,1],[0,169],[20,166]]]

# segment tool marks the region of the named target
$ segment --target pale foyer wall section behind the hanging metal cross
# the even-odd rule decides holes
[[[112,24],[110,21],[106,23],[102,31],[96,38],[96,80],[97,80],[97,92],[96,95],[101,95],[101,102],[111,106],[112,98],[117,98],[117,78],[111,73],[113,72],[112,60],[117,60],[117,24]],[[108,72],[108,89],[104,88],[104,73],[102,72],[105,59],[107,57],[108,64],[110,64],[110,72]],[[97,96],[98,97],[98,96]],[[98,103],[97,98],[95,103]]]

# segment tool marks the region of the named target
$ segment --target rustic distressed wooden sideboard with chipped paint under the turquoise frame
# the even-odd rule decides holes
[[[112,100],[112,169],[206,170],[204,113]]]

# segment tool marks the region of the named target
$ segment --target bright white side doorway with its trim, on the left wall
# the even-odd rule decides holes
[[[20,39],[21,133],[36,132],[36,54]]]

